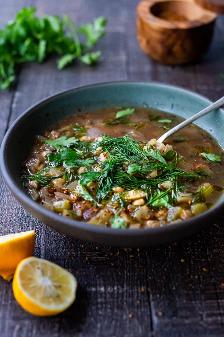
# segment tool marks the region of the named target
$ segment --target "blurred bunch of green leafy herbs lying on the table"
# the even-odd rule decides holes
[[[101,52],[92,52],[99,37],[105,34],[106,19],[98,17],[93,24],[75,25],[68,16],[35,17],[36,8],[25,7],[0,30],[0,89],[7,89],[15,78],[15,65],[21,62],[43,62],[49,53],[61,55],[58,69],[78,58],[86,64],[96,62]],[[86,37],[85,44],[79,35]]]

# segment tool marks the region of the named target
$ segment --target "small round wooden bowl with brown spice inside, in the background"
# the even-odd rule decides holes
[[[216,17],[193,0],[145,0],[137,7],[138,41],[161,63],[192,62],[208,50]]]

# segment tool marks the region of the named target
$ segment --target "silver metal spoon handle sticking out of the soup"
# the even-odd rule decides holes
[[[163,143],[169,136],[171,136],[171,134],[175,133],[176,131],[179,131],[180,129],[182,129],[184,126],[192,123],[193,121],[195,121],[196,119],[208,114],[209,112],[216,110],[218,108],[220,108],[220,106],[224,105],[224,96],[221,97],[220,99],[218,99],[216,102],[212,103],[211,105],[207,106],[207,108],[201,110],[200,112],[198,112],[197,114],[193,115],[192,117],[186,119],[185,121],[183,121],[182,123],[174,126],[172,129],[170,129],[169,131],[167,131],[166,133],[164,133],[158,140],[158,143]]]

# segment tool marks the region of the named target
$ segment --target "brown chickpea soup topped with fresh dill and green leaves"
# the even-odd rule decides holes
[[[223,189],[223,150],[183,119],[154,109],[102,108],[38,135],[24,163],[28,193],[46,209],[93,225],[158,227],[211,208]]]

